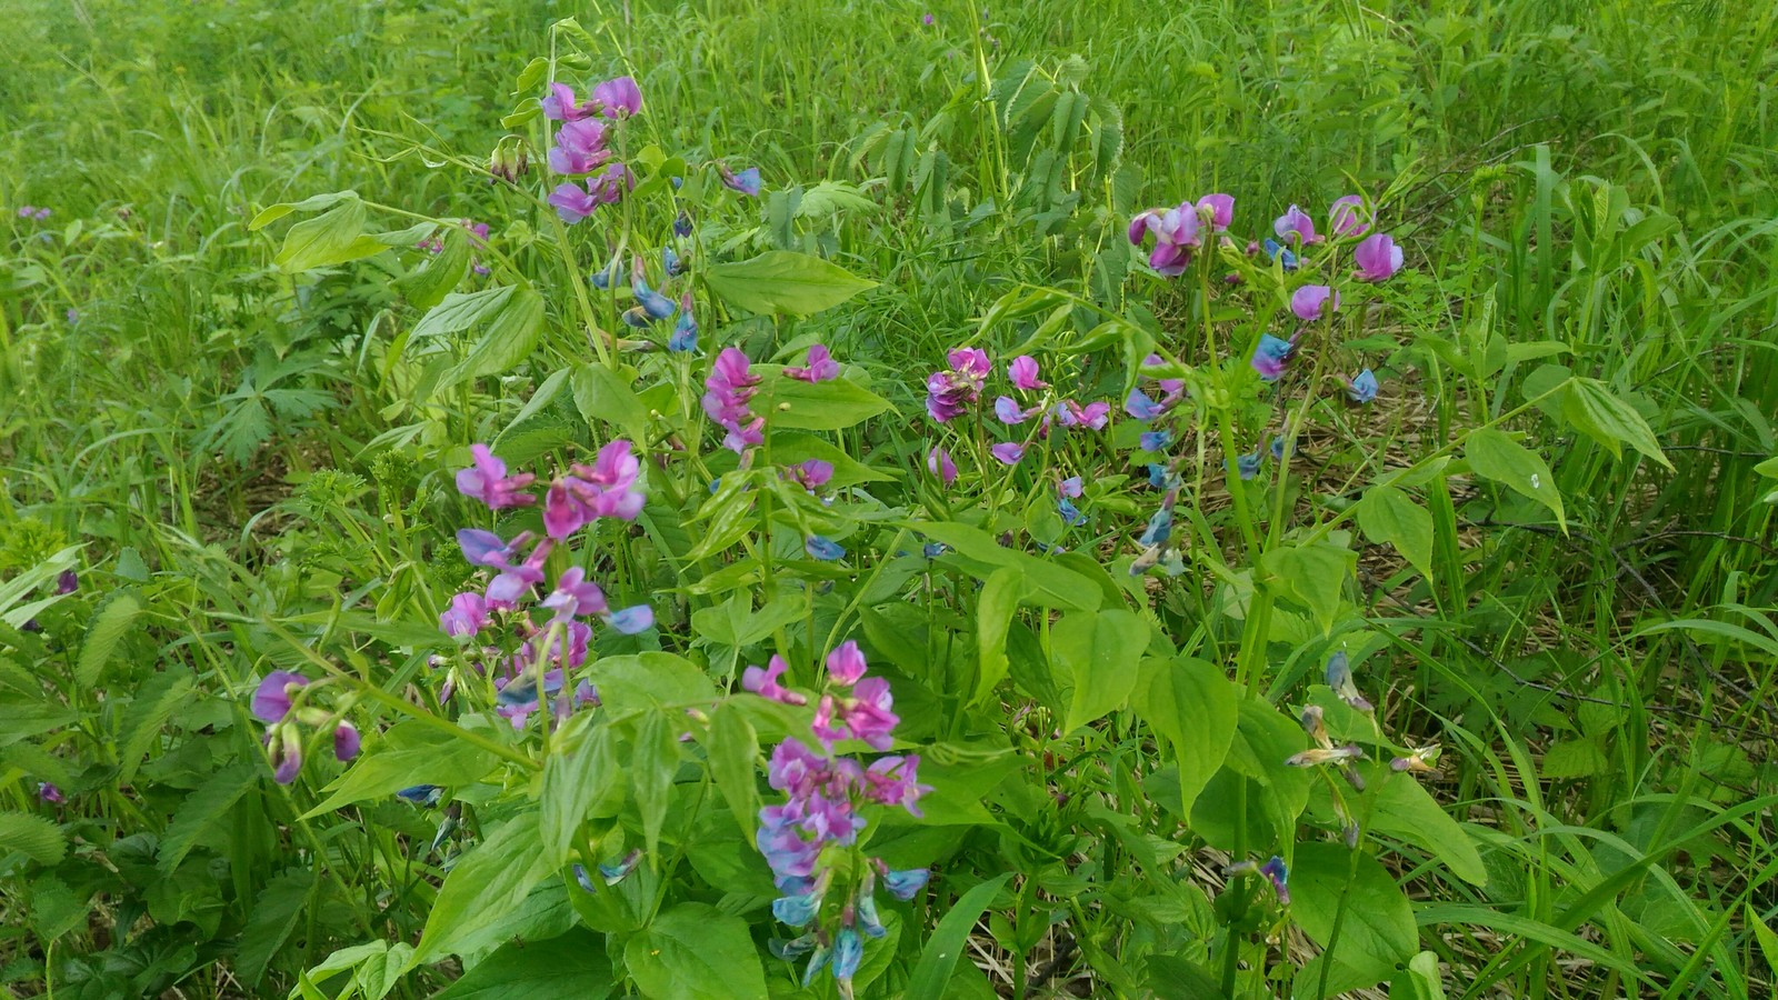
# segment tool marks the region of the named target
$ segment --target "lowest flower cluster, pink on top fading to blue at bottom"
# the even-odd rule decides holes
[[[786,705],[807,705],[805,696],[779,683],[786,671],[784,660],[773,657],[766,669],[747,667],[741,687]],[[928,877],[925,868],[891,870],[859,849],[861,806],[900,806],[917,817],[919,797],[930,790],[917,778],[919,756],[889,754],[866,767],[834,753],[834,744],[845,738],[878,751],[893,742],[898,719],[891,712],[889,685],[864,674],[857,642],[829,653],[827,692],[811,724],[820,753],[797,738],[772,751],[768,778],[786,801],[759,810],[756,836],[784,893],[772,902],[772,913],[802,931],[795,940],[775,940],[773,952],[786,959],[811,956],[804,986],[832,966],[839,995],[846,998],[864,957],[864,938],[885,934],[877,913],[877,883],[882,881],[894,899],[909,900]]]

